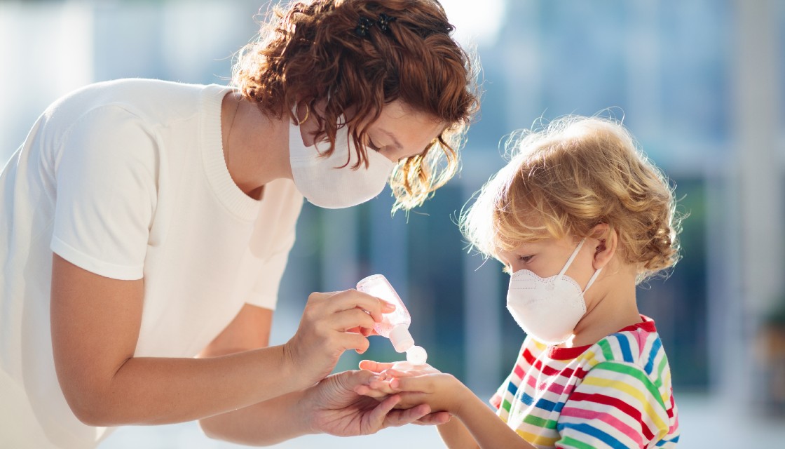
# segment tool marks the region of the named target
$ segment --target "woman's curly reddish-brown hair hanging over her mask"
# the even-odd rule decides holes
[[[393,212],[422,204],[455,175],[479,94],[472,58],[451,37],[454,27],[439,2],[314,0],[274,12],[233,70],[246,99],[268,115],[295,121],[294,105],[308,105],[319,123],[316,138],[330,142],[326,155],[338,127],[348,126],[359,159],[352,169],[367,164],[367,127],[391,101],[447,123],[422,153],[392,172]],[[394,17],[387,32],[374,23],[384,15]],[[361,20],[374,23],[364,36],[356,32]],[[317,113],[316,103],[327,98]],[[347,110],[352,114],[338,123]]]

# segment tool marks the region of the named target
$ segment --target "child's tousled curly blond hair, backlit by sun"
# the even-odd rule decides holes
[[[679,259],[674,188],[615,120],[566,116],[509,138],[509,164],[488,181],[460,226],[486,257],[545,238],[619,235],[637,282]],[[593,235],[601,223],[608,234]]]

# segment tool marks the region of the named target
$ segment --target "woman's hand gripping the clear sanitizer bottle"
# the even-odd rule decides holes
[[[313,385],[332,372],[347,349],[365,352],[374,324],[394,310],[394,305],[355,289],[311,293],[297,333],[283,345],[287,363],[303,387]]]

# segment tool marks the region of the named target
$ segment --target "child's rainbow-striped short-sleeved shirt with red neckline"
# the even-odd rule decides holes
[[[675,447],[679,421],[670,367],[651,318],[595,344],[546,346],[526,337],[491,398],[536,447]]]

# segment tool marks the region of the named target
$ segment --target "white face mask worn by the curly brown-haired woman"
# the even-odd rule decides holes
[[[367,150],[368,167],[357,162],[355,145],[349,139],[349,127],[341,127],[335,136],[335,148],[329,157],[319,156],[330,148],[327,142],[305,146],[300,126],[289,126],[289,160],[297,186],[303,197],[320,208],[349,208],[376,197],[385,188],[396,163],[372,149]],[[319,149],[322,146],[322,149]],[[349,159],[351,157],[351,159]],[[349,160],[349,164],[346,161]]]

